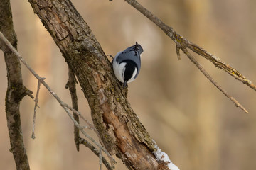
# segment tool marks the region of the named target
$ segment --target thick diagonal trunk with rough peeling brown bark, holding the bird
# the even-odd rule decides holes
[[[78,78],[110,154],[129,169],[158,169],[154,142],[132,111],[127,89],[115,79],[110,61],[73,4],[68,0],[29,2]]]

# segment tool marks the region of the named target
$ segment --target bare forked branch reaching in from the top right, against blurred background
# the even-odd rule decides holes
[[[176,33],[176,31],[174,31],[173,28],[171,28],[170,26],[167,26],[165,23],[163,23],[159,18],[154,16],[153,13],[148,11],[146,8],[144,8],[144,6],[139,4],[137,1],[135,0],[124,0],[124,1],[127,1],[128,4],[136,8],[137,11],[141,12],[144,16],[146,16],[146,18],[149,18],[149,20],[151,20],[153,23],[156,24],[156,26],[161,28],[161,30],[163,30],[164,33],[166,33],[166,35],[169,36],[171,40],[173,40],[176,43],[176,53],[178,56],[178,60],[181,59],[179,51],[182,50],[184,54],[187,55],[187,57],[191,60],[191,62],[193,62],[193,64],[196,64],[196,67],[198,67],[198,69],[200,69],[200,71],[203,72],[206,78],[209,79],[214,86],[216,86],[225,96],[230,98],[230,100],[233,101],[233,103],[235,103],[235,106],[241,108],[242,111],[245,111],[245,113],[248,113],[248,111],[240,103],[238,103],[238,101],[236,101],[235,98],[233,98],[232,96],[229,96],[227,92],[223,90],[222,87],[218,85],[217,82],[214,81],[212,77],[210,77],[210,75],[206,72],[206,70],[203,69],[201,64],[199,64],[194,59],[193,55],[191,55],[191,53],[188,52],[188,49],[192,50],[193,52],[196,52],[196,54],[201,55],[202,57],[205,57],[210,62],[213,62],[215,67],[223,69],[225,72],[228,72],[230,76],[234,77],[235,79],[238,79],[243,84],[246,84],[247,86],[249,86],[250,88],[256,91],[256,86],[252,84],[252,81],[250,81],[245,76],[240,74],[240,72],[238,72],[236,69],[234,69],[230,65],[225,64],[225,62],[221,61],[220,58],[210,54],[210,52],[207,52],[202,47],[199,47],[198,45],[193,44],[193,42],[186,40],[186,38],[183,38],[182,35],[179,35],[178,33]]]

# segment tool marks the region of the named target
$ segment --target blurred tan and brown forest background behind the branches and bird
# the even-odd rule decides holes
[[[253,0],[142,0],[164,23],[188,40],[220,57],[256,83],[256,1]],[[181,55],[174,42],[154,23],[124,1],[73,0],[105,54],[115,55],[134,42],[144,48],[142,69],[129,84],[128,98],[135,113],[159,147],[181,170],[255,170],[256,91],[230,77],[203,57],[196,60],[247,108],[236,108]],[[70,103],[65,89],[68,67],[53,39],[27,1],[11,0],[18,51],[31,67]],[[1,11],[0,11],[1,12]],[[22,65],[23,83],[36,95],[37,80]],[[0,52],[0,169],[12,170],[4,98],[6,67]],[[88,120],[90,109],[78,86],[79,109]],[[80,146],[76,152],[73,123],[42,86],[31,139],[33,100],[21,102],[21,121],[28,159],[33,170],[99,169],[98,158]],[[105,168],[105,167],[104,167]],[[119,161],[116,169],[126,169]]]

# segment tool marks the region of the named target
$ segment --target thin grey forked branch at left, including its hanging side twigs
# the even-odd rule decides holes
[[[19,60],[21,60],[21,62],[28,68],[28,70],[33,74],[34,77],[36,77],[36,79],[38,79],[38,89],[37,89],[37,93],[36,93],[36,99],[35,99],[35,108],[34,108],[34,120],[33,120],[33,134],[32,134],[32,138],[35,137],[34,135],[34,124],[35,124],[35,118],[36,118],[36,107],[38,107],[38,95],[39,95],[39,89],[41,84],[43,84],[43,86],[46,87],[46,89],[48,89],[48,91],[50,91],[50,94],[53,95],[53,97],[60,103],[60,106],[63,107],[63,109],[65,110],[66,113],[68,113],[68,116],[70,117],[71,120],[73,120],[73,123],[75,124],[75,126],[80,130],[80,132],[82,132],[83,135],[85,135],[85,137],[87,137],[87,139],[89,139],[91,142],[93,142],[99,149],[97,149],[96,147],[94,147],[89,141],[80,138],[80,143],[87,146],[89,149],[92,150],[92,152],[94,152],[98,157],[100,157],[102,160],[100,160],[100,162],[103,162],[103,164],[105,164],[105,166],[107,167],[108,170],[112,170],[114,169],[114,164],[116,163],[114,158],[111,157],[111,155],[107,152],[107,149],[105,149],[105,147],[102,147],[102,145],[100,145],[99,142],[96,142],[92,137],[90,137],[90,135],[87,135],[87,133],[85,132],[84,128],[81,125],[79,125],[79,123],[74,119],[72,113],[70,113],[70,111],[72,111],[73,113],[75,113],[76,115],[79,115],[80,118],[82,118],[82,120],[85,121],[85,123],[87,123],[88,126],[86,126],[86,128],[90,128],[91,130],[94,130],[95,133],[98,135],[98,132],[96,130],[96,128],[90,124],[82,115],[80,112],[76,111],[74,108],[68,106],[68,104],[64,103],[57,94],[55,94],[55,92],[50,89],[50,86],[48,86],[48,84],[46,84],[46,81],[44,81],[45,78],[39,77],[39,75],[28,65],[28,63],[23,59],[23,57],[21,57],[21,55],[18,53],[18,51],[11,45],[11,43],[9,42],[9,40],[7,40],[5,38],[5,36],[3,35],[3,33],[0,32],[0,39],[3,40],[3,42],[9,47],[9,49],[14,53],[14,55],[16,55],[18,57]],[[99,135],[98,135],[99,136]],[[110,159],[110,164],[106,161],[105,157],[102,156],[102,151],[105,152],[105,154],[107,154],[107,157]],[[101,165],[100,165],[101,167]]]

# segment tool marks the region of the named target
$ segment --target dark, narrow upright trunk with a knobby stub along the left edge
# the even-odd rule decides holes
[[[12,22],[11,5],[9,0],[0,1],[0,30],[17,48],[16,33]],[[20,101],[31,91],[23,86],[21,77],[21,64],[18,57],[9,50],[3,42],[0,42],[0,49],[4,52],[6,62],[8,86],[6,91],[6,118],[11,143],[10,151],[14,155],[16,169],[29,169],[28,157],[23,143],[20,119]]]

